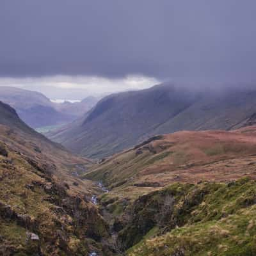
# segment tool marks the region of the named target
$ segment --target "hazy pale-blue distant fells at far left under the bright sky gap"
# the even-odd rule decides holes
[[[42,93],[0,86],[0,100],[16,109],[20,118],[33,128],[66,124],[86,113],[97,99],[82,102],[54,103]]]

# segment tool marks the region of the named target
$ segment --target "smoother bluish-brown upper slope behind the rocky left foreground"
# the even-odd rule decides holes
[[[54,143],[45,138],[42,134],[31,129],[22,120],[20,120],[15,109],[0,102],[0,139],[6,145],[10,145],[13,150],[22,152],[35,161],[52,163],[58,168],[54,168],[58,174],[65,175],[72,173],[76,164],[80,164],[84,169],[92,161],[77,157],[58,143]]]

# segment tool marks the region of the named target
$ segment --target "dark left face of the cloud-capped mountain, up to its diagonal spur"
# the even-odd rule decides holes
[[[110,95],[83,120],[53,132],[50,138],[83,156],[108,156],[147,138],[148,133],[191,106],[197,97],[169,86]]]

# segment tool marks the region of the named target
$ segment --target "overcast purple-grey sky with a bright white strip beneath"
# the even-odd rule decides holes
[[[1,0],[0,86],[84,97],[256,80],[255,0]]]

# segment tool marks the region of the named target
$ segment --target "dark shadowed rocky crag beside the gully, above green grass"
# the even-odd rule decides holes
[[[207,188],[184,189],[165,188],[140,196],[125,214],[128,220],[118,219],[118,246],[127,250],[145,236],[152,228],[158,227],[161,234],[175,227],[183,226],[193,207],[199,205],[209,191]],[[121,221],[120,221],[121,220]],[[179,253],[182,253],[180,251]],[[182,255],[182,254],[177,254]]]

